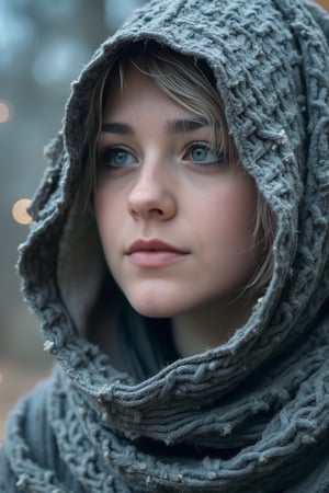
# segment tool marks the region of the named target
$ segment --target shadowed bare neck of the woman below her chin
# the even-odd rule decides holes
[[[183,357],[225,344],[250,317],[254,299],[218,300],[193,312],[178,316],[172,321],[175,347]]]

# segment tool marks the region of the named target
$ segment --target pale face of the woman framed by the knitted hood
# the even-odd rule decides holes
[[[252,179],[212,148],[203,118],[136,69],[106,94],[102,123],[95,217],[132,306],[178,317],[235,299],[257,263]]]

